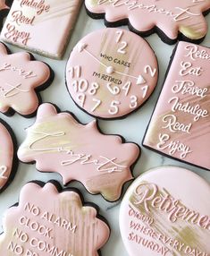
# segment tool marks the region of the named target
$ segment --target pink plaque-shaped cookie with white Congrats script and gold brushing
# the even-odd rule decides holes
[[[88,192],[115,201],[122,184],[132,179],[130,166],[139,157],[139,147],[102,134],[96,121],[83,125],[70,113],[58,114],[53,105],[43,104],[18,157],[25,163],[35,161],[41,172],[59,173],[64,184],[78,180]]]

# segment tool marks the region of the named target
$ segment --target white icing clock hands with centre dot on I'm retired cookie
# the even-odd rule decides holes
[[[114,70],[113,66],[107,66],[106,64],[103,64],[100,60],[97,59],[97,57],[95,55],[92,55],[88,50],[87,50],[87,47],[88,45],[87,44],[84,44],[84,43],[80,43],[80,45],[78,46],[78,49],[79,49],[79,52],[81,53],[82,51],[86,52],[88,55],[90,55],[92,58],[94,58],[97,63],[105,66],[105,71],[106,73],[108,74],[112,74],[112,73],[119,73],[119,74],[122,74],[124,76],[127,76],[127,77],[130,77],[130,78],[134,78],[137,80],[137,84],[144,84],[146,83],[145,79],[143,78],[142,75],[139,74],[139,77],[136,77],[136,76],[133,76],[133,75],[130,75],[130,74],[127,74],[127,73],[121,73],[121,72],[118,72],[116,70]]]

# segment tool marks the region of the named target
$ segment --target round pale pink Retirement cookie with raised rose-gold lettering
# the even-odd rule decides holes
[[[120,209],[120,229],[130,256],[209,256],[210,185],[176,166],[140,175]]]

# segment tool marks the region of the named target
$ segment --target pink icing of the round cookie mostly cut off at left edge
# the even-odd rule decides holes
[[[13,169],[13,140],[0,121],[0,191],[8,183]]]

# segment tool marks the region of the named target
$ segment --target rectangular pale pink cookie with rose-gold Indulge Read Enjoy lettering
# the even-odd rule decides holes
[[[52,58],[61,58],[81,0],[14,0],[1,38]]]

